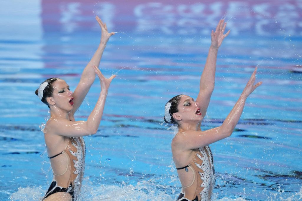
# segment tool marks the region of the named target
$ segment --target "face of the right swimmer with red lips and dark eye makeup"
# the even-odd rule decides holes
[[[178,121],[190,123],[191,121],[202,120],[198,102],[190,96],[183,95],[178,103]],[[174,116],[173,116],[174,117]],[[174,117],[175,118],[175,117]]]

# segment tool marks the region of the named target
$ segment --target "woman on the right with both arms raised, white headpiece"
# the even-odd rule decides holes
[[[201,131],[200,125],[207,112],[211,94],[214,90],[217,50],[223,39],[226,23],[220,20],[216,31],[212,31],[212,43],[207,61],[201,75],[200,91],[196,101],[186,95],[173,97],[165,105],[164,120],[178,126],[178,133],[172,140],[171,148],[182,191],[177,201],[210,200],[215,185],[214,161],[208,146],[229,137],[243,111],[246,98],[258,87],[254,85],[255,74],[247,83],[243,93],[220,127]]]

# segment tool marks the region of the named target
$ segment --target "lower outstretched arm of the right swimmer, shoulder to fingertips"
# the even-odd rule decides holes
[[[206,131],[185,130],[184,132],[178,134],[177,142],[180,143],[179,145],[176,144],[176,146],[179,146],[179,148],[183,150],[197,149],[229,137],[233,133],[233,130],[239,121],[246,98],[262,84],[262,82],[258,82],[254,85],[256,71],[257,67],[255,68],[255,71],[253,72],[249,82],[246,84],[246,87],[244,88],[238,101],[220,127],[212,128]]]

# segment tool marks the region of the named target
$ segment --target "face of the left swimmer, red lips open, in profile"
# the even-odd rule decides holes
[[[69,90],[69,85],[61,79],[53,83],[53,102],[50,105],[55,105],[57,108],[71,111],[73,108],[72,91]]]

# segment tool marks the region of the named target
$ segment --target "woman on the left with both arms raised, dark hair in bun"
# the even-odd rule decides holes
[[[85,143],[82,136],[95,134],[98,130],[109,85],[115,75],[105,78],[98,66],[105,46],[114,33],[108,33],[106,24],[96,17],[101,27],[101,41],[83,70],[74,93],[59,78],[45,80],[36,90],[39,99],[50,108],[50,118],[43,130],[47,153],[53,170],[53,181],[43,200],[76,201],[82,185],[85,166]],[[74,114],[82,104],[92,83],[98,75],[101,93],[95,108],[86,121],[75,121]]]

